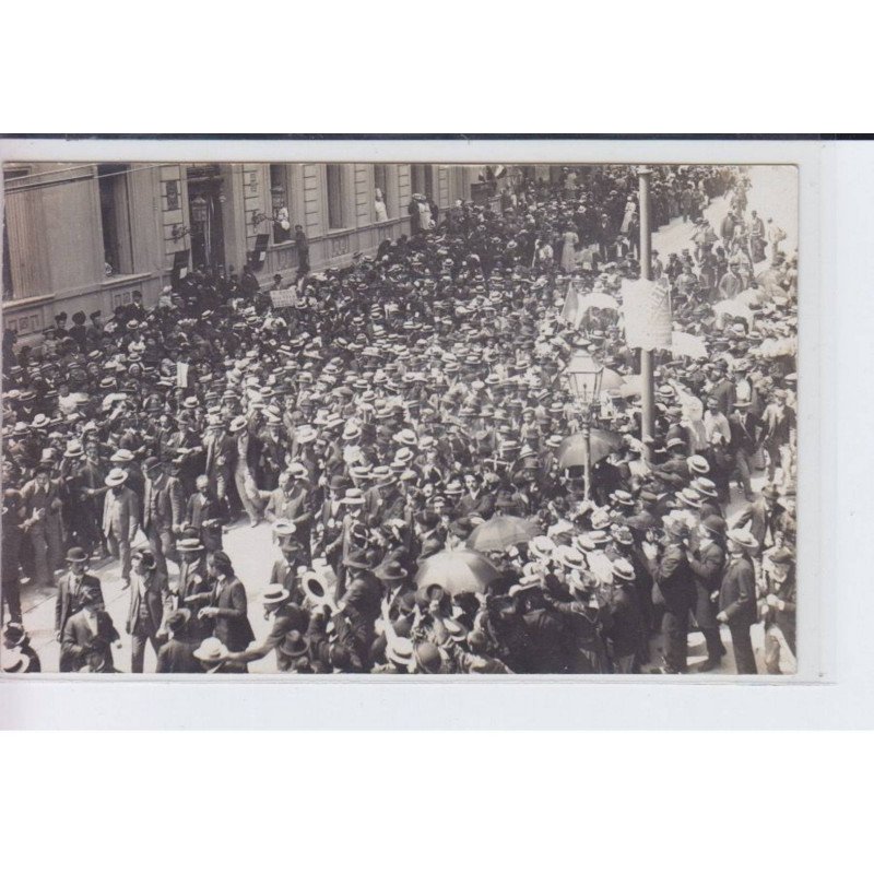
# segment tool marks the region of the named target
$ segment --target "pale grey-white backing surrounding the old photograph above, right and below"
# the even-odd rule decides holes
[[[61,161],[791,163],[800,168],[800,673],[701,683],[612,677],[0,678],[2,728],[735,728],[871,724],[872,592],[863,510],[874,190],[870,143],[0,142],[0,157]],[[840,265],[840,269],[839,269]],[[867,330],[866,330],[867,329]],[[865,356],[865,357],[862,357]],[[85,682],[83,682],[85,681]]]

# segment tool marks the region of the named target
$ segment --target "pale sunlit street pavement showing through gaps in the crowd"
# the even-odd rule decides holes
[[[766,221],[772,216],[787,232],[783,249],[789,252],[798,245],[798,221],[792,212],[791,201],[787,200],[786,196],[787,190],[791,190],[794,185],[792,174],[794,174],[794,169],[789,167],[753,167],[751,169],[753,187],[749,192],[751,209],[758,210]],[[778,211],[775,204],[781,204],[782,212]],[[713,201],[708,206],[706,215],[716,228],[719,227],[719,223],[722,221],[727,210],[728,203],[724,198]],[[684,224],[682,218],[674,220],[671,225],[653,235],[653,248],[659,250],[663,260],[666,260],[666,256],[672,251],[678,252],[684,248],[690,248],[689,235],[692,228],[693,225]],[[755,485],[760,485],[760,481]],[[729,510],[730,517],[737,512],[742,503],[739,501],[736,492],[733,495]],[[271,543],[270,525],[262,523],[257,529],[250,529],[246,522],[233,525],[225,535],[225,548],[234,560],[237,575],[246,584],[250,604],[249,618],[255,628],[256,637],[260,639],[267,631],[268,623],[258,607],[258,602],[269,580],[270,568],[275,555]],[[130,594],[128,590],[121,589],[118,563],[103,563],[94,568],[94,571],[101,577],[107,610],[121,634],[121,648],[115,651],[116,664],[120,670],[127,672],[130,670],[130,638],[125,634],[125,622]],[[24,624],[39,652],[44,670],[56,671],[59,645],[54,636],[54,590],[35,591],[33,588],[25,586],[23,601],[25,610]],[[724,631],[723,636],[728,643],[728,630]],[[760,626],[754,628],[753,640],[757,648],[759,668],[761,669],[760,653],[758,653],[761,645]],[[690,638],[689,662],[694,664],[704,661],[704,659],[702,638],[700,635],[693,635]],[[658,658],[656,659],[657,661]],[[153,671],[154,666],[155,654],[147,650],[145,672]],[[252,663],[250,670],[259,673],[275,671],[275,656],[271,653],[261,662]],[[734,663],[731,656],[724,660],[722,669],[718,673],[734,673]]]

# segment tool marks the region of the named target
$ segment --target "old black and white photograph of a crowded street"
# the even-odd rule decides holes
[[[799,167],[294,158],[3,163],[3,673],[794,676]]]

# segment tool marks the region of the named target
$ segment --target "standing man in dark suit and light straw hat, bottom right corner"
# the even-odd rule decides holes
[[[759,550],[755,538],[743,529],[729,532],[729,563],[722,574],[717,619],[731,631],[739,674],[756,674],[756,658],[749,627],[757,621],[756,571],[749,555]]]

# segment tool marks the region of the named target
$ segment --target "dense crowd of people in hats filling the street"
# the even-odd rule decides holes
[[[689,246],[653,251],[652,273],[708,354],[657,353],[645,444],[622,310],[563,318],[569,287],[618,300],[639,276],[637,173],[500,181],[439,213],[420,198],[414,233],[302,271],[292,307],[248,268],[196,271],[153,308],[58,314],[38,347],[7,332],[3,670],[39,670],[22,580],[57,588],[60,662],[43,668],[64,672],[128,669],[123,631],[133,672],[151,646],[162,673],[263,658],[292,673],[684,673],[689,631],[712,670],[724,626],[755,673],[758,623],[767,670],[794,670],[786,235],[748,210],[739,168],[654,168],[654,226],[682,218]],[[609,441],[591,479],[565,458],[580,345],[616,377],[591,411]],[[225,548],[240,521],[273,529],[258,605]],[[107,555],[130,590],[123,629],[95,572]]]

